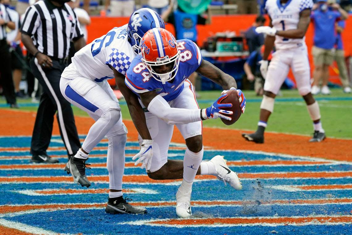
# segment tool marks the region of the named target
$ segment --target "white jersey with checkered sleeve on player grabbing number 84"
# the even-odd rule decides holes
[[[127,24],[114,27],[106,35],[76,52],[72,63],[65,68],[61,76],[74,79],[79,75],[95,82],[102,82],[114,78],[113,70],[109,66],[125,75],[135,57],[127,39]]]

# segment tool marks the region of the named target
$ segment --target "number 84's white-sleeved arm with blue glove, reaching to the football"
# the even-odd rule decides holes
[[[207,109],[179,109],[171,108],[169,103],[157,93],[150,91],[139,94],[140,99],[148,111],[163,119],[168,124],[187,124],[199,122],[206,119],[224,118],[231,120],[232,111],[222,110],[231,107],[232,104],[221,104],[221,100],[227,97],[227,94],[221,95],[212,106]]]

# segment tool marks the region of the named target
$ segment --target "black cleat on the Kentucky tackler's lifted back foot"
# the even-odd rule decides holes
[[[86,168],[90,169],[86,165],[90,166],[89,163],[86,163],[87,159],[80,159],[76,157],[71,157],[71,159],[66,163],[65,171],[67,174],[71,173],[73,176],[73,181],[77,184],[86,186],[87,188],[90,186],[90,182],[86,177]]]

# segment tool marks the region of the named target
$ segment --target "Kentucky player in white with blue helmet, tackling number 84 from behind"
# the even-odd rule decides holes
[[[95,120],[82,147],[68,161],[65,171],[73,175],[75,183],[89,187],[85,169],[90,169],[86,166],[90,164],[86,160],[90,151],[106,136],[109,140],[107,168],[110,190],[105,211],[112,214],[140,214],[145,213],[146,209],[133,207],[122,198],[127,129],[122,123],[119,101],[107,79],[115,78],[121,93],[128,98],[131,116],[140,120],[134,124],[144,140],[143,146],[148,149],[152,140],[143,109],[124,81],[132,59],[138,54],[140,38],[154,27],[165,28],[163,19],[156,12],[148,8],[133,12],[128,24],[113,28],[78,51],[61,75],[60,89],[65,99]],[[152,155],[152,150],[142,148],[140,155],[143,159],[146,155]]]

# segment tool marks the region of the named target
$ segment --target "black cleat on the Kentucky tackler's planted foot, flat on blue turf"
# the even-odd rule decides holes
[[[146,214],[147,209],[142,207],[134,207],[128,204],[128,201],[132,201],[131,198],[121,197],[108,198],[108,204],[106,205],[105,212],[110,214]]]

